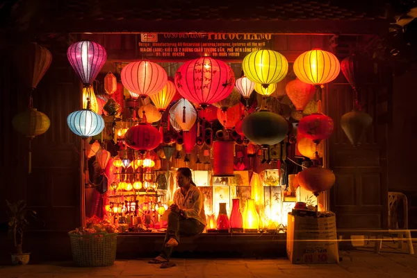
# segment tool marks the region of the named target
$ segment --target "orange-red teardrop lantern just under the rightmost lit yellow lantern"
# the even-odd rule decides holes
[[[304,110],[314,94],[316,94],[316,89],[313,85],[304,83],[298,78],[288,82],[285,91],[297,111]]]

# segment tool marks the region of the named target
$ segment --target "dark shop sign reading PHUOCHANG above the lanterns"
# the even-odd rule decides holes
[[[272,49],[270,33],[141,33],[144,59],[195,59],[211,56],[240,60],[252,51]]]

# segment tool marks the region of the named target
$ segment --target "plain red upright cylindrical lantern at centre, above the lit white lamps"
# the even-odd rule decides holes
[[[234,141],[215,141],[213,143],[213,176],[234,176]]]

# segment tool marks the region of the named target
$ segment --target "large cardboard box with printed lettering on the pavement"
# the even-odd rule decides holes
[[[288,214],[286,252],[291,263],[338,263],[336,216]]]

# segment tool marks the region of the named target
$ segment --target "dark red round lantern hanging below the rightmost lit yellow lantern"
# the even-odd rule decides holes
[[[320,101],[318,103],[318,113],[304,116],[298,123],[298,132],[302,136],[313,140],[316,144],[319,144],[321,140],[328,139],[332,135],[333,129],[333,120],[322,114]]]

